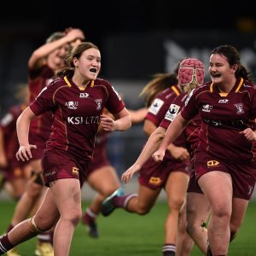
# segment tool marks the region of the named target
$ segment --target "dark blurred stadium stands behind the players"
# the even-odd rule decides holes
[[[125,96],[128,108],[154,73],[171,72],[183,57],[205,62],[210,49],[233,44],[256,73],[256,16],[253,2],[230,1],[16,1],[0,15],[0,106],[15,103],[15,85],[26,82],[27,61],[52,32],[79,27],[102,51],[101,76]],[[207,4],[207,6],[206,6]],[[137,158],[145,140],[141,125],[115,133],[109,147],[120,172]]]

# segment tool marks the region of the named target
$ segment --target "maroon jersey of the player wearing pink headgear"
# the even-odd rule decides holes
[[[172,123],[173,119],[177,116],[177,113],[181,111],[184,106],[184,103],[188,97],[187,93],[183,93],[177,96],[172,102],[170,108],[166,112],[165,118],[161,121],[160,126],[167,130],[168,126]],[[193,158],[195,149],[198,146],[198,133],[201,128],[201,117],[199,114],[195,118],[191,119],[189,125],[183,131],[183,136],[186,139],[186,147],[189,150],[190,158]]]

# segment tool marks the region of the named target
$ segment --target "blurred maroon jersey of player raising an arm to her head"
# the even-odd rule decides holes
[[[36,70],[29,70],[30,102],[33,102],[40,91],[52,81],[54,74],[54,71],[45,65]],[[38,138],[44,140],[45,143],[49,138],[51,125],[52,113],[44,113],[32,120],[29,127],[30,135],[33,135],[33,137],[38,135]]]

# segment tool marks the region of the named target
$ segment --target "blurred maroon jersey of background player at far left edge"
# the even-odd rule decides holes
[[[15,105],[9,108],[8,113],[0,121],[3,130],[4,150],[8,160],[15,159],[15,154],[20,148],[16,132],[16,120],[24,109],[25,106],[23,105]]]

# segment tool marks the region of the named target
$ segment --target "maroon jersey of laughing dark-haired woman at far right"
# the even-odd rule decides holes
[[[220,93],[207,83],[193,90],[181,111],[184,119],[201,115],[201,131],[196,152],[206,152],[230,162],[252,160],[255,143],[240,134],[253,128],[256,118],[256,87],[241,78],[230,93]]]

